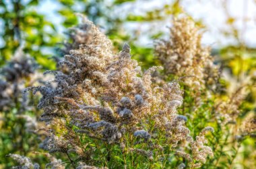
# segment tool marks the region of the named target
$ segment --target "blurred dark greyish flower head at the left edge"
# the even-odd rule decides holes
[[[38,83],[40,76],[36,73],[37,68],[34,59],[25,55],[22,48],[18,48],[11,61],[0,69],[0,110],[15,106],[21,107],[21,112],[29,108],[22,97],[22,90]]]

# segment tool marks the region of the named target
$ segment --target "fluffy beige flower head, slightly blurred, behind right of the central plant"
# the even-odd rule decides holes
[[[199,28],[189,18],[175,19],[170,28],[170,39],[159,40],[155,45],[156,57],[166,73],[178,77],[194,76],[185,82],[194,90],[212,86],[218,80],[218,67],[214,65],[209,48],[201,46]]]

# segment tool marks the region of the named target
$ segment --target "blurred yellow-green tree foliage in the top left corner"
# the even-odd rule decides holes
[[[13,0],[0,1],[0,18],[3,31],[3,46],[0,48],[0,65],[13,56],[19,46],[38,61],[43,67],[54,68],[54,63],[47,58],[51,55],[42,50],[53,50],[60,41],[53,22],[45,19],[35,7],[39,1]],[[51,54],[51,53],[50,53]]]

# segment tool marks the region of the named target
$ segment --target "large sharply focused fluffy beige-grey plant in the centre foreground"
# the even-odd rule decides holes
[[[42,94],[38,108],[47,126],[40,130],[48,135],[43,149],[65,154],[73,168],[164,168],[182,157],[196,168],[212,156],[204,135],[213,129],[206,127],[193,141],[187,117],[178,114],[183,104],[178,81],[154,83],[151,74],[161,67],[141,71],[128,44],[115,54],[86,18],[75,29],[84,40],[59,63],[68,71],[46,71],[55,78],[28,88]]]

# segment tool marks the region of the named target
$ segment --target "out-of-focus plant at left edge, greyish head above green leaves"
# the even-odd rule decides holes
[[[23,90],[37,86],[43,79],[37,69],[34,59],[23,53],[22,48],[0,69],[0,159],[1,165],[7,164],[6,167],[10,167],[11,159],[5,155],[19,153],[27,156],[40,143],[34,135],[34,130],[39,127],[36,120],[39,110],[34,106],[38,96],[30,95],[32,102],[28,103],[22,95]]]

